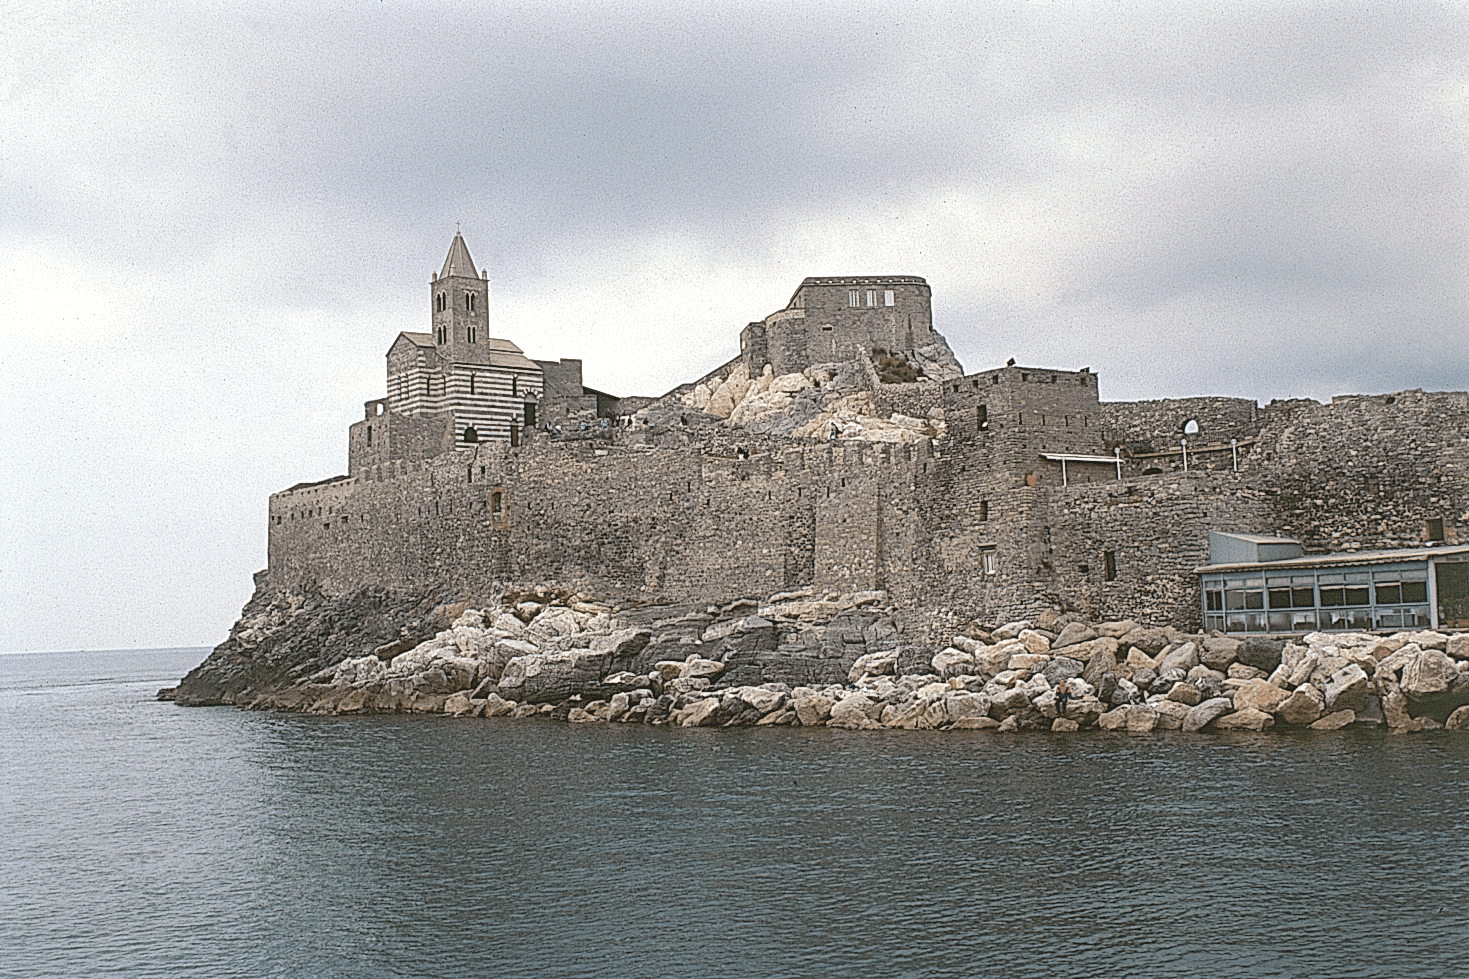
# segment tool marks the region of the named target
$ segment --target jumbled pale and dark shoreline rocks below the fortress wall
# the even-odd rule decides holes
[[[1049,610],[912,644],[881,591],[702,607],[552,587],[445,598],[261,584],[229,639],[160,697],[685,728],[1469,728],[1466,634],[1240,639]]]

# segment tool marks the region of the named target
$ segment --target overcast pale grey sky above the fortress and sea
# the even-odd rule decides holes
[[[1465,3],[0,3],[0,651],[214,645],[461,228],[661,394],[808,275],[1106,401],[1469,388]]]

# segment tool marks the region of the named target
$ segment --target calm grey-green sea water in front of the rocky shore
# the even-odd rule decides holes
[[[667,731],[0,657],[0,976],[1469,975],[1469,736]]]

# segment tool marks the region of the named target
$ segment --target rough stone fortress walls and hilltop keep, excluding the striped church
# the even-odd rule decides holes
[[[808,279],[798,291],[808,325],[812,310],[833,326],[851,315],[848,350],[871,344],[864,329],[892,326],[883,294],[874,307],[846,306],[849,287],[865,303],[867,282],[898,284],[892,310],[920,298],[927,309],[927,285],[912,276]],[[782,313],[746,328],[726,369],[809,365],[812,334]],[[903,344],[933,343],[931,323],[921,326]],[[404,417],[369,401],[351,431],[348,476],[272,497],[270,579],[328,591],[451,585],[480,597],[555,581],[711,603],[884,589],[933,629],[1052,606],[1197,626],[1193,570],[1208,563],[1210,529],[1297,537],[1309,551],[1469,534],[1465,392],[1263,409],[1240,398],[1103,403],[1090,370],[1012,365],[884,384],[864,363],[876,404],[917,417],[939,407],[946,435],[815,441],[690,426],[685,416],[464,447],[436,415]],[[586,409],[591,395],[573,391],[580,365],[560,366],[564,378],[546,372],[542,412]],[[369,445],[369,426],[394,437]]]

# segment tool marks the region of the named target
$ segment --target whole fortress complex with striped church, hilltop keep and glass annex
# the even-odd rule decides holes
[[[1043,607],[1228,632],[1469,626],[1469,394],[1111,403],[965,373],[917,276],[808,278],[660,398],[489,335],[454,237],[348,472],[270,500],[269,578],[727,601],[883,589],[912,629]],[[732,338],[733,340],[733,338]]]

